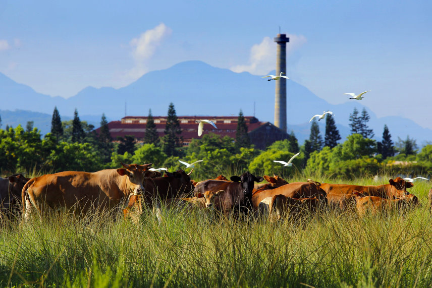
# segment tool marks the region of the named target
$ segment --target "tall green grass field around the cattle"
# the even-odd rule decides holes
[[[33,215],[1,227],[0,286],[431,286],[429,189],[415,183],[409,191],[422,206],[404,215],[329,211],[276,224],[206,211],[168,214],[160,226],[150,210],[139,224]]]

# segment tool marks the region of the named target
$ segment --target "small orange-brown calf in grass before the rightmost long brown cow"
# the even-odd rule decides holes
[[[375,215],[378,212],[389,212],[390,210],[413,208],[420,205],[417,196],[414,194],[408,194],[401,199],[388,199],[378,196],[364,196],[358,191],[353,193],[360,217],[363,217],[366,213]]]

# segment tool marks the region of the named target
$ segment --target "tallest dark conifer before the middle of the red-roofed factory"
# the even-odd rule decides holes
[[[176,147],[180,147],[183,143],[183,137],[181,137],[182,130],[180,128],[180,122],[176,115],[176,109],[174,104],[171,102],[168,107],[167,126],[165,127],[165,136],[163,138],[163,150],[168,156],[177,156]]]

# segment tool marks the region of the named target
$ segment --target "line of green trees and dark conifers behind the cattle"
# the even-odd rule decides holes
[[[280,174],[289,176],[293,172],[305,170],[308,173],[329,174],[353,177],[358,173],[374,174],[394,161],[417,161],[416,170],[429,171],[429,151],[432,145],[425,146],[417,154],[415,140],[407,137],[395,144],[388,127],[384,126],[382,141],[371,139],[374,133],[368,128],[368,113],[365,109],[359,114],[354,108],[350,114],[351,135],[345,142],[341,140],[334,118],[326,116],[324,138],[320,135],[318,123],[313,120],[309,139],[302,146],[291,132],[288,139],[277,141],[265,150],[251,145],[246,121],[240,110],[236,138],[221,137],[212,133],[199,139],[192,139],[188,147],[183,147],[179,119],[173,103],[168,107],[167,124],[164,136],[158,136],[151,110],[149,110],[143,143],[134,136],[118,137],[113,142],[104,114],[100,130],[96,134],[94,126],[81,121],[75,109],[71,121],[61,121],[55,107],[52,113],[51,132],[43,138],[40,131],[28,122],[26,129],[6,127],[0,129],[0,169],[3,174],[16,171],[57,172],[62,170],[95,171],[118,167],[123,162],[151,162],[154,166],[180,169],[179,159],[193,162],[204,159],[195,168],[198,177],[214,177],[219,174],[238,174],[246,169],[256,174]],[[1,128],[0,118],[0,128]],[[292,169],[282,168],[273,160],[288,160],[301,151],[294,160]],[[395,156],[395,153],[398,153]],[[424,163],[423,163],[424,162]],[[429,161],[430,162],[430,161]],[[418,164],[420,163],[420,164]],[[411,166],[407,166],[411,167]],[[413,168],[413,169],[414,169]],[[387,167],[389,169],[389,167]]]

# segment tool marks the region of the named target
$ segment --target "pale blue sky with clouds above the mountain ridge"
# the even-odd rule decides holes
[[[263,76],[280,26],[292,80],[331,103],[371,90],[362,103],[378,117],[432,129],[431,12],[430,1],[2,0],[0,72],[63,97],[187,60]]]

